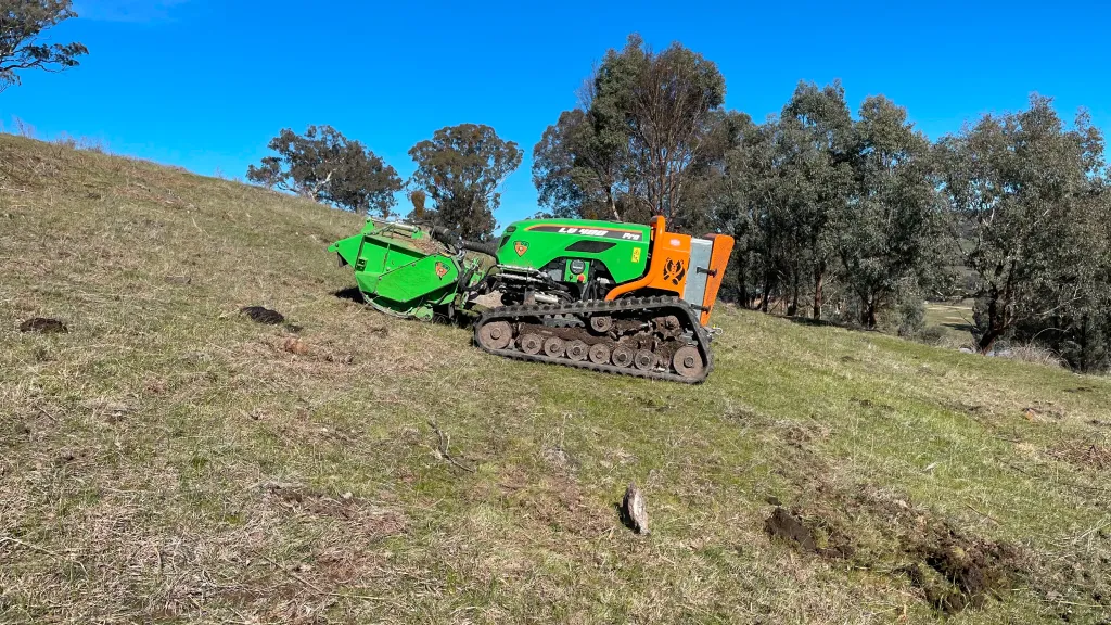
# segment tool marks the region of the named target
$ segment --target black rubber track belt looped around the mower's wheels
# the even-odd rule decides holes
[[[662,374],[659,371],[642,371],[634,367],[617,367],[614,365],[597,365],[588,360],[574,361],[568,358],[552,358],[543,354],[529,355],[516,349],[487,349],[478,340],[479,330],[490,321],[504,320],[517,323],[520,317],[546,317],[550,315],[593,315],[602,312],[611,315],[614,312],[651,312],[652,310],[667,309],[670,314],[684,315],[688,319],[689,328],[694,328],[694,337],[698,340],[699,351],[705,359],[705,368],[702,375],[697,378],[688,378],[675,374]],[[487,310],[474,324],[474,345],[488,354],[523,360],[527,363],[544,363],[549,365],[563,365],[577,369],[589,369],[607,374],[618,374],[649,379],[661,379],[668,381],[680,381],[684,384],[701,384],[713,369],[713,355],[710,353],[709,334],[702,328],[699,318],[685,301],[677,297],[641,297],[608,301],[604,299],[593,299],[589,301],[577,301],[574,304],[527,304],[519,306],[500,306]]]

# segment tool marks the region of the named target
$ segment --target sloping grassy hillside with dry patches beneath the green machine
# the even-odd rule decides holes
[[[358,227],[0,136],[0,622],[1107,622],[1108,379],[728,308],[702,386],[501,360],[338,297]]]

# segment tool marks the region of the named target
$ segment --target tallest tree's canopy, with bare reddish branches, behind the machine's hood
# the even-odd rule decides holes
[[[724,101],[717,66],[674,43],[654,52],[637,34],[610,50],[533,148],[540,204],[560,216],[643,221],[673,217]]]

